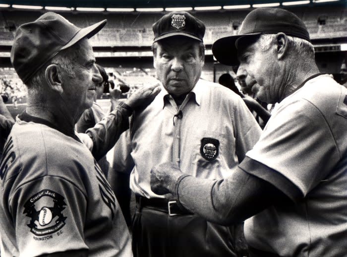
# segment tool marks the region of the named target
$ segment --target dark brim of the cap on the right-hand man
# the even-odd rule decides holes
[[[213,56],[221,64],[230,66],[238,65],[236,41],[240,38],[251,40],[260,34],[261,33],[251,33],[220,38],[212,45]]]

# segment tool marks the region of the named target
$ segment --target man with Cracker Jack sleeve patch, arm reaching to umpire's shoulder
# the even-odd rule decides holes
[[[47,12],[16,31],[11,62],[28,106],[0,161],[1,256],[132,256],[116,197],[74,131],[102,81],[88,39],[105,24],[79,28]],[[143,89],[111,113],[116,135],[158,91]]]

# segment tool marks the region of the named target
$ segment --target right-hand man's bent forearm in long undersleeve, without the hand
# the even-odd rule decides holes
[[[274,194],[283,194],[269,183],[241,169],[231,177],[209,181],[183,178],[176,185],[177,198],[185,208],[222,225],[243,221],[275,201]]]

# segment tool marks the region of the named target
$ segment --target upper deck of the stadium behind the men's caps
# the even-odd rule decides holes
[[[341,6],[303,6],[291,7],[305,22],[311,39],[324,40],[347,38],[347,8]],[[237,34],[243,18],[251,9],[219,10],[195,12],[194,15],[206,25],[204,42],[212,44],[218,38]],[[14,30],[22,23],[35,20],[43,11],[0,9],[0,46],[11,46]],[[152,44],[152,24],[163,12],[63,12],[62,15],[77,26],[85,27],[104,18],[108,19],[106,27],[92,38],[94,47],[149,47]]]

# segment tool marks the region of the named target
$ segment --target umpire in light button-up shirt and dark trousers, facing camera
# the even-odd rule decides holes
[[[153,32],[153,61],[162,91],[146,110],[132,117],[130,133],[122,134],[115,146],[116,173],[109,173],[124,212],[128,203],[124,198],[131,195],[128,185],[136,195],[133,253],[139,257],[243,256],[242,222],[224,227],[193,215],[175,199],[151,191],[150,171],[172,161],[192,176],[227,178],[261,129],[239,96],[200,78],[205,25],[199,19],[184,11],[170,12],[153,24]],[[103,152],[98,146],[105,144],[97,143],[98,136],[93,138],[93,151]]]

